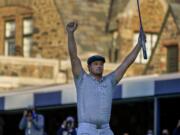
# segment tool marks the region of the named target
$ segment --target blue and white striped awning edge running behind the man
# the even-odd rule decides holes
[[[113,93],[113,99],[141,99],[180,96],[180,73],[123,78]],[[76,104],[74,84],[26,89],[0,95],[0,111],[17,110],[29,105],[56,107]]]

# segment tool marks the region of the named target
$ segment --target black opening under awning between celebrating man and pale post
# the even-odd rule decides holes
[[[153,129],[153,100],[115,103],[111,126],[115,135],[125,132],[130,135],[145,135],[147,130]]]

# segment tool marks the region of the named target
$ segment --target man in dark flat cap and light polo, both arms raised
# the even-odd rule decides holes
[[[136,59],[141,47],[139,44],[112,73],[103,77],[105,58],[99,55],[88,59],[89,74],[82,68],[77,56],[74,32],[77,22],[66,26],[68,50],[72,72],[77,90],[78,135],[113,135],[109,127],[112,96],[116,84],[121,80],[128,67]],[[140,41],[140,40],[139,40]]]

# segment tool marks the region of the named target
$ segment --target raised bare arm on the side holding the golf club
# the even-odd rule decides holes
[[[140,36],[139,36],[140,39]],[[140,40],[138,39],[137,45],[134,47],[134,49],[129,53],[129,55],[123,60],[122,64],[118,66],[118,68],[115,70],[115,80],[116,82],[119,82],[123,75],[125,74],[128,67],[135,61],[141,46],[140,46]]]

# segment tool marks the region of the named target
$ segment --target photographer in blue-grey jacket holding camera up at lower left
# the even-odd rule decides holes
[[[25,135],[43,135],[44,116],[37,114],[33,107],[28,107],[19,123],[19,129],[25,130]]]

